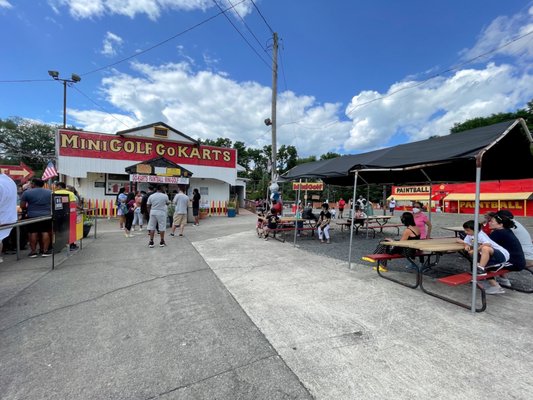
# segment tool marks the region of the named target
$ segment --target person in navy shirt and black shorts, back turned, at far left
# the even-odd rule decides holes
[[[27,210],[28,218],[49,217],[52,215],[52,191],[45,189],[44,181],[33,178],[31,189],[22,193],[20,208]],[[50,246],[50,232],[52,231],[52,220],[37,222],[28,225],[30,234],[30,258],[37,257],[37,240],[39,235],[42,238],[41,256],[50,257],[52,252]]]

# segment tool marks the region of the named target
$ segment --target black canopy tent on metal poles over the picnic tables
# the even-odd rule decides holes
[[[533,177],[533,139],[523,119],[297,166],[283,178],[321,178],[327,184],[354,186],[366,183],[476,182],[474,265],[477,265],[477,226],[481,180]],[[352,220],[353,221],[353,220]],[[350,236],[351,248],[353,229]],[[476,280],[473,269],[473,280]],[[472,311],[476,288],[472,285]]]

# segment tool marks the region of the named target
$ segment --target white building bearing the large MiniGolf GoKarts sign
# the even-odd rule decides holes
[[[184,133],[162,123],[105,134],[59,129],[56,135],[57,169],[85,199],[115,200],[121,187],[128,188],[136,179],[126,167],[163,157],[178,164],[190,175],[180,177],[179,168],[159,168],[150,182],[187,185],[189,193],[198,188],[202,206],[225,204],[237,195],[241,205],[246,193],[245,180],[237,178],[237,151],[225,147],[204,146]],[[176,175],[177,174],[177,175]],[[132,189],[147,190],[148,179]]]

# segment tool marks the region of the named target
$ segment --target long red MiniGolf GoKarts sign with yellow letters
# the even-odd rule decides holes
[[[165,157],[176,164],[236,168],[237,151],[225,147],[133,138],[99,133],[58,131],[58,154],[64,157],[144,161]]]

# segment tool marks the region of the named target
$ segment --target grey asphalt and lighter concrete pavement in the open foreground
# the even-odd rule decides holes
[[[149,249],[112,221],[54,271],[5,258],[2,399],[533,398],[532,295],[473,315],[254,226]]]

